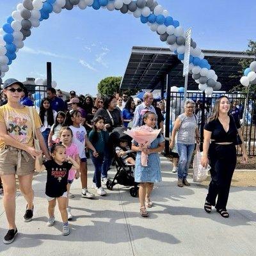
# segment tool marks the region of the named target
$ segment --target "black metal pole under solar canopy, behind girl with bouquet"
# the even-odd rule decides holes
[[[170,141],[170,108],[171,108],[171,74],[166,76],[166,118],[165,118],[165,144],[164,152],[169,154],[169,141]]]

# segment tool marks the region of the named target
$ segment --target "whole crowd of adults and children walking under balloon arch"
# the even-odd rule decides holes
[[[28,222],[33,218],[34,209],[33,173],[35,170],[47,171],[47,226],[54,225],[54,207],[58,202],[63,221],[62,235],[67,236],[70,233],[68,220],[72,220],[68,198],[74,197],[70,192],[74,179],[81,180],[81,197],[95,196],[88,190],[88,157],[92,159],[95,168],[92,188],[100,196],[107,193],[102,185],[108,182],[108,170],[114,154],[125,164],[134,165],[134,181],[140,184],[140,215],[148,216],[147,209],[153,206],[151,192],[154,183],[161,182],[159,152],[164,149],[163,101],[156,102],[149,92],[140,100],[129,97],[127,93],[122,96],[115,93],[96,99],[90,96],[77,97],[74,91],[70,92],[70,99],[63,101],[54,88],[47,88],[47,97],[41,100],[37,113],[33,102],[26,99],[26,87],[16,79],[4,81],[3,93],[6,104],[0,107],[0,184],[3,182],[3,204],[9,225],[3,240],[5,244],[12,243],[17,234],[15,175],[18,176],[20,191],[27,202],[24,221]],[[175,159],[179,158],[177,186],[180,188],[190,186],[187,180],[188,168],[195,143],[200,143],[195,105],[193,100],[184,102],[184,113],[177,116],[170,134],[170,148],[177,144]],[[241,145],[243,159],[247,160],[239,119],[236,115],[230,115],[231,108],[227,97],[216,100],[214,111],[204,128],[202,157],[202,166],[206,167],[208,163],[211,165],[212,177],[204,209],[209,213],[212,206],[215,206],[224,218],[228,217],[226,205],[236,166],[235,145]],[[136,140],[131,141],[130,147],[127,140],[120,138],[114,150],[109,150],[113,147],[109,136],[116,127],[143,125],[148,130],[161,129],[148,147]],[[238,143],[239,138],[241,142]],[[37,140],[40,149],[36,147]],[[131,151],[136,153],[136,157],[129,154]],[[141,164],[143,154],[147,155],[146,165]]]

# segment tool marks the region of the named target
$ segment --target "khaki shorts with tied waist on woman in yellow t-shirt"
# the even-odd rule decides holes
[[[35,172],[35,159],[24,150],[6,146],[0,149],[0,175],[28,175]]]

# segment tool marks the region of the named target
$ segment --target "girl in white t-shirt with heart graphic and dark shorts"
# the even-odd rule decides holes
[[[82,183],[82,197],[92,198],[94,195],[87,189],[87,164],[85,156],[85,146],[93,151],[93,156],[97,157],[98,153],[92,143],[87,138],[86,129],[81,125],[83,117],[78,110],[72,110],[67,113],[63,126],[68,126],[73,132],[72,143],[77,145],[80,157],[80,173]]]

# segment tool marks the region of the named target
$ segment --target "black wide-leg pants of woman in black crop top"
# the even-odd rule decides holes
[[[226,209],[232,175],[236,168],[236,146],[234,143],[230,145],[211,143],[208,157],[212,180],[206,200],[216,209]]]

